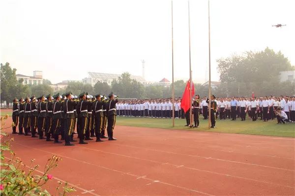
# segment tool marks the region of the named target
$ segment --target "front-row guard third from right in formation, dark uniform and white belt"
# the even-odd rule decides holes
[[[91,105],[91,102],[86,100],[86,93],[83,92],[79,95],[80,101],[77,104],[77,114],[78,114],[78,136],[79,136],[79,144],[88,144],[84,141],[85,133],[87,129],[88,123],[88,106]]]

